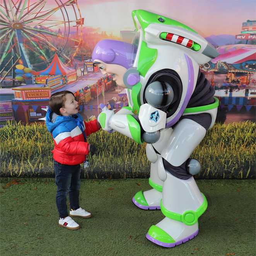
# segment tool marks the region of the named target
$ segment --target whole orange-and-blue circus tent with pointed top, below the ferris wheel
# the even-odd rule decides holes
[[[56,75],[61,75],[61,77],[63,77],[63,82],[66,84],[77,80],[76,70],[66,67],[56,53],[47,68],[38,72],[33,72],[32,74],[34,75],[37,84],[45,83],[47,78]]]

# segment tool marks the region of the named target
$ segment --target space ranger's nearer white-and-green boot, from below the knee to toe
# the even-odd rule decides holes
[[[207,200],[193,177],[183,180],[166,172],[161,211],[166,216],[152,225],[147,239],[163,247],[183,244],[198,234],[198,218],[207,209]]]

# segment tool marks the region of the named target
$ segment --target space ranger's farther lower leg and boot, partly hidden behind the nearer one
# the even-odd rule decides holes
[[[147,157],[149,155],[148,149],[149,147],[152,147],[152,145],[147,144],[146,152]],[[153,149],[154,150],[154,149]],[[155,152],[154,152],[155,153]],[[148,183],[150,186],[152,186],[153,189],[147,190],[147,191],[138,191],[135,196],[133,196],[133,203],[143,209],[143,210],[159,210],[160,209],[160,201],[162,199],[162,185],[163,181],[161,181],[158,177],[158,166],[159,161],[162,162],[162,157],[160,157],[159,154],[154,154],[155,158],[148,157],[148,160],[151,161],[150,166],[150,178]],[[153,162],[154,161],[154,162]]]

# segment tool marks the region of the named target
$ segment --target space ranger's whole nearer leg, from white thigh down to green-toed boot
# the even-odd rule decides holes
[[[206,129],[191,119],[175,126],[169,144],[162,150],[165,170],[159,177],[164,181],[161,211],[165,218],[152,225],[147,239],[164,247],[174,247],[198,234],[198,218],[207,208],[193,176],[186,171],[186,162],[195,147],[205,137]]]

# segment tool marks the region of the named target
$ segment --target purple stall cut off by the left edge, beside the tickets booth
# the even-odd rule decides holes
[[[12,111],[13,98],[12,89],[0,89],[0,127],[5,126],[8,120],[14,120],[14,113]]]

